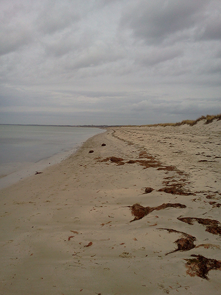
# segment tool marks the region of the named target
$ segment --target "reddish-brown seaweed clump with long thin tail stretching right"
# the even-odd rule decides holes
[[[132,221],[139,220],[139,219],[143,218],[144,216],[148,215],[149,213],[151,213],[154,210],[161,210],[161,209],[166,209],[169,207],[186,208],[186,205],[179,204],[179,203],[175,203],[175,204],[170,204],[170,203],[165,204],[164,203],[158,207],[143,207],[140,204],[136,203],[133,206],[127,206],[127,207],[131,208],[131,213],[132,213],[132,215],[135,216],[135,218],[130,221],[130,222],[132,222]]]

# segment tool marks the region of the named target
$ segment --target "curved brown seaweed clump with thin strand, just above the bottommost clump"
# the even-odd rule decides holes
[[[195,245],[194,245],[194,241],[196,240],[195,236],[191,236],[191,235],[188,235],[186,233],[179,232],[179,231],[176,231],[176,230],[173,230],[173,229],[162,229],[162,228],[160,228],[158,230],[166,230],[169,233],[178,233],[178,234],[182,235],[181,238],[178,238],[174,242],[174,243],[177,244],[177,249],[166,253],[166,255],[168,255],[170,253],[174,253],[176,251],[189,251],[189,250],[195,248]]]

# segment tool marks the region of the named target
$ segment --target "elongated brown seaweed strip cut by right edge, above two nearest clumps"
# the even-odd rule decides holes
[[[209,218],[197,218],[197,217],[177,217],[178,220],[186,222],[193,225],[193,221],[198,222],[206,227],[206,232],[213,235],[221,235],[221,226],[218,220],[213,220]]]

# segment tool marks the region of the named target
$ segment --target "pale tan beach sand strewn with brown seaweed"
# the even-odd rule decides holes
[[[203,123],[113,128],[1,190],[0,295],[220,294],[219,224],[211,233],[198,221],[221,222],[221,121]],[[186,207],[130,222],[136,203]],[[167,254],[191,236],[192,249]],[[213,259],[205,277],[186,266],[191,255]]]

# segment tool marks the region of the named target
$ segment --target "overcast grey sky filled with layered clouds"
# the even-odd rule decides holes
[[[220,113],[220,0],[0,0],[0,123]]]

